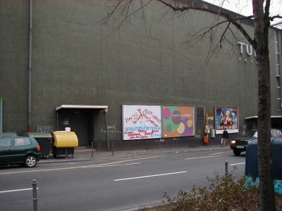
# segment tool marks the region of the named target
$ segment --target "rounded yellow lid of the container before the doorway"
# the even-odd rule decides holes
[[[53,146],[57,148],[78,146],[78,136],[75,132],[53,132]]]

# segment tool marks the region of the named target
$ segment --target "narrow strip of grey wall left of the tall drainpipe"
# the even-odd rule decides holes
[[[27,126],[28,1],[1,1],[0,97],[3,132]]]

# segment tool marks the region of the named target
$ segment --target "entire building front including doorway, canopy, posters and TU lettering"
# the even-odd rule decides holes
[[[118,16],[103,23],[108,6],[92,0],[0,1],[2,132],[70,128],[80,146],[94,142],[109,149],[114,143],[121,149],[200,146],[207,132],[209,143],[219,143],[216,127],[227,110],[235,128],[231,137],[256,127],[255,52],[235,28],[226,34],[232,45],[226,41],[214,51],[209,37],[187,42],[215,20],[209,13],[163,16],[164,7],[152,4],[144,16],[136,13],[117,27]],[[242,25],[253,34],[251,23]],[[212,33],[219,39],[223,30]],[[281,32],[271,28],[269,34],[272,127],[281,129]],[[125,115],[154,106],[159,135],[126,138]],[[183,126],[191,133],[180,135],[184,129],[174,122],[178,134],[166,136],[164,112],[181,106],[193,108],[182,113],[192,117]]]

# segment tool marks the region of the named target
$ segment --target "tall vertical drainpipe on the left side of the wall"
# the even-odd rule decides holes
[[[30,46],[28,52],[28,126],[27,132],[32,132],[31,128],[31,55],[32,55],[32,0],[30,0]]]

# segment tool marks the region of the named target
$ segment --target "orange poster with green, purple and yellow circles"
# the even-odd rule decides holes
[[[163,106],[163,137],[195,136],[194,120],[192,106]]]

